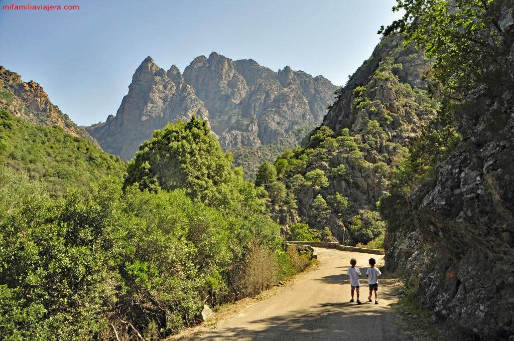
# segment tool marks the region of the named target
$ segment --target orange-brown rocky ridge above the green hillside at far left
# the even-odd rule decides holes
[[[57,105],[53,105],[43,87],[34,81],[23,82],[20,75],[0,66],[0,108],[9,110],[14,117],[33,124],[58,125],[74,136],[96,146],[98,142],[88,132],[72,122]]]

